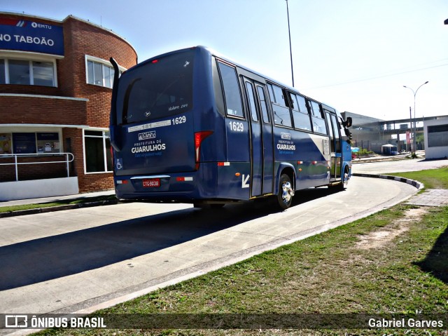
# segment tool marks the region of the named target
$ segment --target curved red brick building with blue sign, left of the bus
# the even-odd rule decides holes
[[[113,187],[111,57],[137,64],[91,22],[0,13],[0,201]]]

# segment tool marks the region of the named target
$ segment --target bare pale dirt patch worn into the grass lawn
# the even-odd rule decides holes
[[[361,236],[360,241],[356,243],[356,248],[360,250],[370,250],[371,248],[380,248],[385,246],[386,243],[392,241],[393,238],[400,236],[407,230],[409,230],[409,224],[421,220],[421,217],[426,213],[424,208],[409,209],[405,213],[405,217],[400,220],[396,220],[381,231],[374,231],[367,236]]]

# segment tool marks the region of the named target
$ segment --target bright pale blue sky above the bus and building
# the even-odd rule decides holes
[[[339,112],[448,115],[447,0],[288,0],[295,88]],[[0,0],[0,11],[112,29],[139,61],[209,46],[291,85],[285,0]]]

